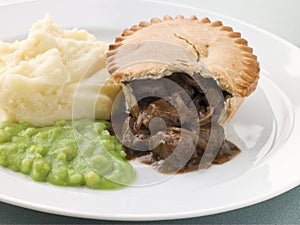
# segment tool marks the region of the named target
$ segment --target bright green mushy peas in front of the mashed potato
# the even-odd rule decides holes
[[[110,123],[90,119],[53,126],[0,123],[0,165],[60,186],[116,189],[133,182],[135,171]]]

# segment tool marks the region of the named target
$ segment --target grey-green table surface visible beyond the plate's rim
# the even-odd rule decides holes
[[[268,30],[300,47],[299,0],[165,0],[231,16]],[[16,0],[0,0],[1,4]],[[0,203],[0,224],[115,224],[36,212]],[[139,222],[131,222],[137,224]],[[246,208],[192,219],[143,224],[300,224],[300,186],[271,200]]]

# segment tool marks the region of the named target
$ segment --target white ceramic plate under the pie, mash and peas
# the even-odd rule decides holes
[[[153,1],[28,1],[0,7],[0,39],[23,38],[49,13],[64,27],[112,42],[123,28],[165,14],[207,16],[242,32],[261,63],[261,79],[227,127],[243,151],[205,172],[165,177],[135,164],[134,186],[118,191],[61,188],[0,169],[0,200],[49,213],[109,219],[160,220],[202,216],[248,206],[300,183],[300,51],[261,29],[194,8]],[[165,179],[167,178],[167,179]],[[154,182],[159,181],[159,182]]]

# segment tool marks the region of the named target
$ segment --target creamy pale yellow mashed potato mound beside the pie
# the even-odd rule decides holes
[[[0,42],[0,110],[36,126],[79,117],[109,119],[120,87],[105,69],[107,45],[46,17],[27,39]],[[102,90],[101,90],[102,89]]]

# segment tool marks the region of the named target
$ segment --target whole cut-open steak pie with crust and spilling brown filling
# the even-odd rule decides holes
[[[207,18],[153,18],[125,29],[107,60],[129,110],[120,124],[128,158],[178,173],[240,152],[224,125],[256,89],[260,70],[240,33]]]

